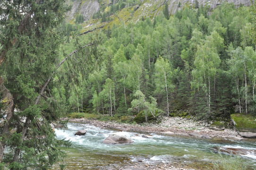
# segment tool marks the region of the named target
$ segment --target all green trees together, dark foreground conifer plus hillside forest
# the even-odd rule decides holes
[[[46,170],[61,160],[69,143],[50,124],[70,115],[255,114],[255,6],[187,6],[174,16],[165,8],[81,34],[83,17],[66,23],[64,2],[0,0],[1,168]]]

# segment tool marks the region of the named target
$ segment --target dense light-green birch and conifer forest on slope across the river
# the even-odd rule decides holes
[[[166,116],[188,110],[200,119],[254,113],[253,22],[250,8],[222,3],[213,11],[187,7],[171,17],[162,13],[90,35],[74,31],[64,51],[90,38],[97,49],[68,60],[55,78],[56,95],[67,110],[89,107],[119,117],[157,108]]]

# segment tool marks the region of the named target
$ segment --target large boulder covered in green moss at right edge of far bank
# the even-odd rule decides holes
[[[249,114],[231,114],[231,119],[233,119],[235,127],[240,132],[256,133],[256,116]]]

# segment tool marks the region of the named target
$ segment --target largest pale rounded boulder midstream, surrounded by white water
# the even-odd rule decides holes
[[[133,143],[133,140],[129,139],[124,135],[110,135],[104,141],[104,144],[130,144]]]

